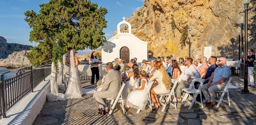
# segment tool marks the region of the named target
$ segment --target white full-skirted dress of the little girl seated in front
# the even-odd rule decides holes
[[[145,86],[143,90],[133,90],[131,93],[129,93],[126,104],[140,110],[144,110],[147,105],[147,88],[148,88],[148,81],[147,79],[141,79],[145,80]],[[142,83],[142,82],[141,82]],[[141,88],[140,86],[139,88]]]

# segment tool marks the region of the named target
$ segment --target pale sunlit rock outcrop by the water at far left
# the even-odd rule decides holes
[[[8,58],[0,59],[0,67],[6,68],[20,68],[31,65],[28,58],[25,56],[29,51],[23,50],[21,52],[13,52]]]

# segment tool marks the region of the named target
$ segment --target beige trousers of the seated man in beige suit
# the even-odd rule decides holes
[[[99,103],[100,107],[103,110],[108,109],[108,106],[107,106],[107,98],[109,98],[108,94],[106,94],[103,91],[95,92],[94,93],[94,98]]]

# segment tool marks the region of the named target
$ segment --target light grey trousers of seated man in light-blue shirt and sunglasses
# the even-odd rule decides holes
[[[223,91],[225,89],[225,85],[213,85],[212,87],[208,88],[207,84],[203,84],[202,86],[202,93],[206,100],[211,100],[211,103],[215,102],[215,92],[217,91]]]

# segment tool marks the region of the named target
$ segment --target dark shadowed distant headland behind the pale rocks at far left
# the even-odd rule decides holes
[[[22,45],[18,43],[7,43],[4,37],[0,36],[0,58],[7,58],[14,51],[30,50],[32,46]]]

